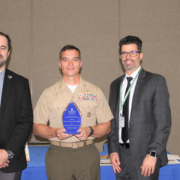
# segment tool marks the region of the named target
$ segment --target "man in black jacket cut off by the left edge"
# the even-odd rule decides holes
[[[28,80],[6,69],[10,47],[9,36],[0,32],[0,179],[20,180],[33,112]]]

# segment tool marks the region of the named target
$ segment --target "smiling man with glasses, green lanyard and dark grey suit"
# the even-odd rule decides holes
[[[127,36],[119,46],[125,74],[110,87],[114,119],[108,148],[112,167],[117,180],[158,180],[159,168],[167,164],[171,128],[166,80],[142,69],[138,37]]]

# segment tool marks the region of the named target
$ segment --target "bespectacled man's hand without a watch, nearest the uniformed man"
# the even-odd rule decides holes
[[[111,153],[110,154],[110,160],[111,160],[111,164],[113,167],[113,171],[116,174],[116,172],[120,173],[121,172],[121,168],[120,166],[120,160],[119,160],[119,155],[118,153]]]

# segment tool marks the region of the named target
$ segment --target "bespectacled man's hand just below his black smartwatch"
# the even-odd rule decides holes
[[[140,167],[142,169],[141,174],[144,175],[145,177],[153,174],[155,170],[156,162],[157,162],[157,157],[152,157],[149,154],[147,154],[143,160],[142,166]]]

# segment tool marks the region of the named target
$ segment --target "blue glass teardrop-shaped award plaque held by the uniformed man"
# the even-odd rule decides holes
[[[71,135],[80,134],[80,132],[78,132],[78,129],[81,126],[81,119],[81,111],[72,100],[68,104],[62,115],[63,126],[66,129],[65,133]]]

